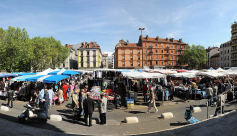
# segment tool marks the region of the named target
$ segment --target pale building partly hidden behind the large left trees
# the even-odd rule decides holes
[[[59,68],[78,69],[77,50],[73,48],[73,45],[66,44],[65,46],[68,47],[70,54],[66,58],[65,62],[60,65]]]

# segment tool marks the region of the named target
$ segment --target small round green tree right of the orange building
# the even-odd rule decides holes
[[[198,68],[199,64],[205,64],[206,50],[204,46],[201,45],[186,45],[187,49],[184,54],[179,57],[178,63],[181,65],[188,64],[189,68]]]

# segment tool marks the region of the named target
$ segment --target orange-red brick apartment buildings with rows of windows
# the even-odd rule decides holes
[[[120,40],[115,47],[116,68],[177,68],[186,43],[182,39],[139,37],[138,43]]]

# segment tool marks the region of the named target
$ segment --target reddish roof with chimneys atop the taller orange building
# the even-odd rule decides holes
[[[182,41],[182,38],[179,40],[174,40],[174,38],[159,38],[159,36],[157,36],[156,38],[152,38],[152,37],[148,37],[148,35],[146,37],[141,37],[142,41],[151,41],[151,42],[165,42],[165,43],[179,43],[179,44],[186,44]]]

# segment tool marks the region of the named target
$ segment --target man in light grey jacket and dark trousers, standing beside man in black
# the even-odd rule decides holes
[[[100,124],[106,124],[106,111],[107,111],[107,98],[104,97],[104,93],[101,93],[101,101],[99,107]]]

